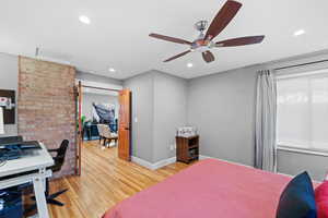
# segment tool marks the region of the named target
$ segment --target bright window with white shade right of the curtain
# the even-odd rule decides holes
[[[328,70],[278,76],[279,146],[328,152]]]

